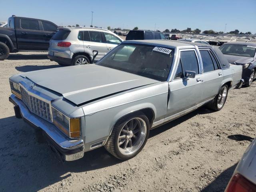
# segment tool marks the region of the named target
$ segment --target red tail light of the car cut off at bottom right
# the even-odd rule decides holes
[[[255,192],[256,185],[240,174],[232,177],[226,192]]]

